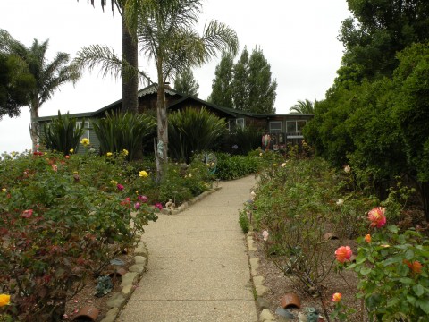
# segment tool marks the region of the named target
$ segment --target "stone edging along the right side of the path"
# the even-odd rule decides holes
[[[248,263],[250,265],[250,275],[255,287],[257,307],[261,310],[259,315],[260,322],[277,321],[273,313],[268,309],[269,303],[264,299],[265,292],[269,289],[264,285],[264,276],[258,275],[259,258],[255,255],[257,252],[256,242],[253,240],[253,229],[247,233],[248,242]]]

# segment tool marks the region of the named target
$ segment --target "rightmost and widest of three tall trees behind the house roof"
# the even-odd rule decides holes
[[[260,48],[255,48],[248,60],[248,111],[274,114],[277,81],[271,80],[271,66]]]

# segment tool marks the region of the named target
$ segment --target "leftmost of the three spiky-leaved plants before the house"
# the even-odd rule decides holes
[[[85,120],[83,120],[83,123],[85,123]],[[64,155],[67,155],[71,148],[75,151],[78,150],[79,140],[83,131],[83,128],[76,128],[75,117],[71,117],[68,113],[62,115],[58,111],[58,118],[46,124],[40,140],[47,149],[63,152]]]

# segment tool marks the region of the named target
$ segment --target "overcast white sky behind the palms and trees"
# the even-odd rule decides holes
[[[49,39],[49,59],[60,51],[74,57],[81,47],[92,44],[113,47],[119,54],[121,19],[108,7],[103,13],[99,3],[96,0],[93,8],[87,0],[0,0],[0,29],[27,47],[34,38]],[[205,0],[203,10],[200,30],[206,20],[223,21],[237,32],[240,51],[244,46],[249,51],[261,47],[278,83],[277,114],[288,114],[299,99],[324,99],[341,64],[343,47],[337,36],[341,21],[351,15],[346,0]],[[220,57],[194,69],[202,99],[211,93],[219,61]],[[141,55],[139,65],[145,70],[150,66]],[[119,98],[120,80],[87,72],[75,87],[64,85],[56,91],[40,115],[94,111]],[[29,108],[23,107],[21,117],[4,116],[0,121],[0,153],[26,148],[31,148]]]

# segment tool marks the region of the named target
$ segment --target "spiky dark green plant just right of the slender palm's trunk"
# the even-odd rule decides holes
[[[171,157],[189,163],[193,154],[214,149],[226,131],[226,123],[204,107],[187,107],[169,115],[168,131]]]

